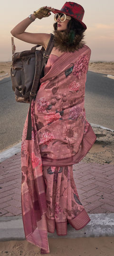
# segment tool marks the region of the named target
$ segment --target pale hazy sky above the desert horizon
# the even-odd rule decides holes
[[[114,0],[78,0],[85,9],[83,22],[87,26],[85,43],[91,48],[91,61],[114,61]],[[60,10],[64,0],[2,0],[0,5],[0,61],[11,60],[11,34],[21,20],[42,6],[51,6]],[[36,19],[29,25],[28,32],[51,33],[54,14],[42,20]],[[16,52],[31,49],[33,44],[14,38]]]

